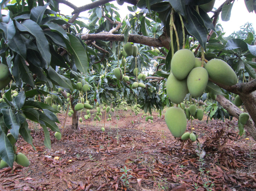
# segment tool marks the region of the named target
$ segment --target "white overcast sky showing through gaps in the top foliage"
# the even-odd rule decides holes
[[[223,2],[224,0],[215,0],[214,7],[218,8]],[[76,6],[85,5],[84,1],[81,1],[81,0],[72,0],[72,3],[75,4]],[[127,14],[131,13],[127,9],[127,6],[131,6],[128,3],[124,3],[124,5],[122,6],[118,5],[116,1],[112,1],[110,3],[113,3],[116,7],[119,7],[120,10],[122,10],[119,12],[119,14],[123,18]],[[64,4],[60,4],[59,6],[60,6],[61,13],[64,13],[65,15],[71,15],[71,12],[73,11],[72,8]],[[63,12],[63,10],[65,10],[65,12]],[[80,16],[88,17],[88,13],[83,12],[80,14]],[[212,13],[209,13],[209,16],[212,16]],[[234,31],[239,31],[240,27],[243,26],[246,22],[252,23],[254,29],[256,30],[256,14],[255,12],[249,13],[247,11],[247,8],[244,4],[244,0],[234,1],[232,11],[231,11],[231,17],[229,21],[225,22],[225,21],[222,21],[221,18],[219,18],[219,23],[221,23],[224,29],[224,32],[226,33],[225,36],[232,34]]]

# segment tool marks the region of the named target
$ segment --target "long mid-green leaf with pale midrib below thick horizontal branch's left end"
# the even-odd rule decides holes
[[[75,57],[76,68],[86,75],[88,69],[88,59],[85,49],[76,37],[71,34],[68,34],[68,36],[70,39],[70,44],[66,42],[66,45],[69,51],[71,51]]]

